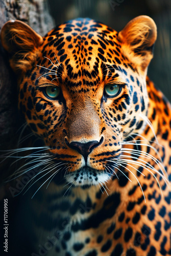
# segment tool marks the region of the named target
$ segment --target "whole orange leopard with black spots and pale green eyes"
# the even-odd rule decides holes
[[[35,172],[15,209],[17,255],[171,255],[171,106],[147,76],[156,39],[145,15],[120,32],[91,18],[44,37],[20,20],[2,28],[18,111],[42,142],[10,152],[29,160],[14,179]]]

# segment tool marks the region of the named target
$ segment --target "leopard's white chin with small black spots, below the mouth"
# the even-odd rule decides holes
[[[78,169],[76,172],[66,175],[66,181],[75,186],[92,186],[104,184],[111,179],[111,174],[105,170],[97,170],[88,166]]]

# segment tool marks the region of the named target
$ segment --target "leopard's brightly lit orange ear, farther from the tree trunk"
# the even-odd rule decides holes
[[[157,27],[154,20],[142,15],[132,19],[118,34],[123,51],[132,63],[142,71],[153,58],[153,46],[157,39]]]

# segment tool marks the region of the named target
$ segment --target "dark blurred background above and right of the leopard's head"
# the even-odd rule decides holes
[[[158,38],[148,76],[171,101],[170,0],[48,0],[56,25],[76,17],[90,17],[120,31],[138,15],[155,20]],[[51,28],[50,28],[51,29]]]

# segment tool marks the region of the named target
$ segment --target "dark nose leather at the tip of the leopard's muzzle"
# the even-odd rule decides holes
[[[73,141],[69,144],[69,146],[73,148],[73,150],[78,151],[84,157],[85,161],[87,161],[87,158],[90,152],[92,152],[93,148],[95,148],[99,144],[101,143],[97,140],[93,140],[87,143],[80,143],[77,141]]]

